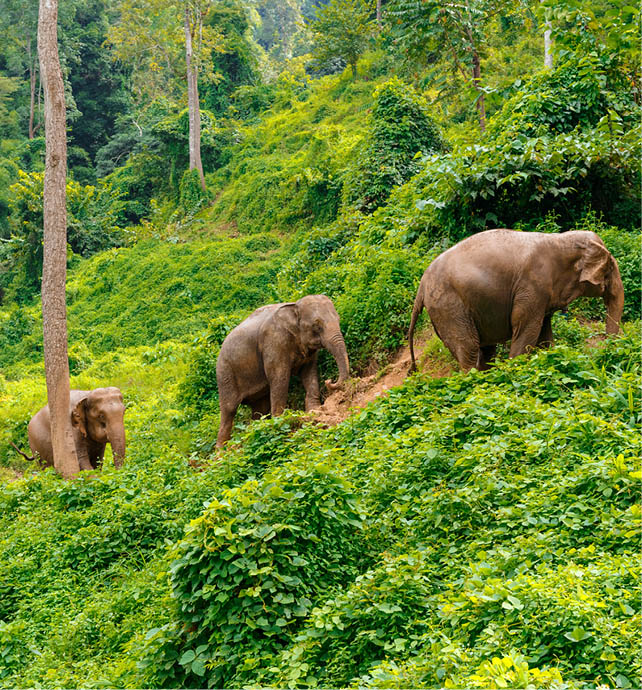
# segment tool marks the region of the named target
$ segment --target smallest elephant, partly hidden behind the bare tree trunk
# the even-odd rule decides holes
[[[93,391],[70,392],[71,424],[81,470],[102,465],[105,446],[111,443],[114,465],[120,467],[125,458],[125,405],[118,388],[95,388]],[[45,465],[53,465],[49,405],[37,412],[29,422],[29,446],[34,456]]]

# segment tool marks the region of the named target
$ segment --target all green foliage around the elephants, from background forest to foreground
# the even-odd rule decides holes
[[[0,687],[640,685],[633,8],[214,3],[202,192],[177,6],[61,3],[71,384],[119,386],[128,439],[65,483],[10,445],[46,402],[44,140],[35,5],[0,6]],[[429,262],[502,226],[597,232],[622,334],[578,300],[555,347],[433,378],[456,365],[426,330],[425,373],[336,426],[295,381],[214,450],[253,309],[325,293],[353,376],[383,372]]]

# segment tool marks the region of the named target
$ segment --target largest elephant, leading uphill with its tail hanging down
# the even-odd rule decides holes
[[[464,371],[487,369],[498,343],[510,357],[553,343],[551,316],[578,297],[602,297],[606,332],[617,333],[624,288],[617,262],[594,232],[486,230],[438,256],[426,269],[408,340],[425,307],[435,332]]]

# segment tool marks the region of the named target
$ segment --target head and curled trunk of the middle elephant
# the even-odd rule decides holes
[[[307,295],[284,307],[289,310],[291,319],[288,330],[296,334],[301,350],[314,352],[325,348],[334,357],[339,367],[339,378],[336,383],[325,383],[330,390],[337,389],[350,376],[350,362],[339,315],[332,300],[325,295]]]

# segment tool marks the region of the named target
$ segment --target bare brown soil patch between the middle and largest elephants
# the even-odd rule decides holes
[[[450,376],[456,364],[444,353],[444,349],[433,346],[436,336],[430,328],[415,336],[415,358],[419,371],[434,378]],[[428,345],[431,347],[428,347]],[[429,352],[426,352],[426,350]],[[359,379],[350,379],[346,386],[328,396],[320,410],[313,413],[318,424],[334,426],[350,415],[364,408],[376,398],[386,396],[391,388],[400,386],[408,377],[410,349],[399,348],[389,364],[377,373]]]

